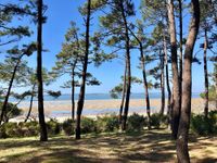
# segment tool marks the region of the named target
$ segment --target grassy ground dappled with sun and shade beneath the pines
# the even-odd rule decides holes
[[[190,136],[192,162],[217,162],[217,138]],[[175,142],[166,129],[141,134],[84,136],[81,140],[60,136],[39,142],[37,138],[0,140],[0,162],[11,163],[119,163],[176,162]]]

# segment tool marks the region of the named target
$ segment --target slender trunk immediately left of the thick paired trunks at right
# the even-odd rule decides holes
[[[166,87],[167,87],[167,116],[168,116],[168,123],[170,123],[171,120],[171,90],[169,86],[169,68],[168,68],[168,53],[167,53],[167,43],[166,38],[164,34],[164,57],[165,57],[165,67],[166,67]]]

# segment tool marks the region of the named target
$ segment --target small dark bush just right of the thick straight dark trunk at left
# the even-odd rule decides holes
[[[61,131],[61,125],[58,123],[56,120],[51,118],[47,123],[48,134],[49,135],[58,135]]]

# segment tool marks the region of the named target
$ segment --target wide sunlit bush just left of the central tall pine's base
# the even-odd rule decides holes
[[[97,120],[97,130],[98,131],[115,131],[119,127],[118,116],[116,115],[105,115],[99,116]]]

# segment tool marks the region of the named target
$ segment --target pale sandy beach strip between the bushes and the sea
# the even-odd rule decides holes
[[[118,113],[120,100],[86,100],[82,115],[95,117],[98,115]],[[23,120],[28,112],[29,102],[22,102],[20,108],[23,110],[23,115],[15,117],[15,121]],[[151,112],[155,113],[159,111],[161,99],[151,99]],[[167,101],[166,101],[167,106]],[[166,113],[165,106],[165,113]],[[201,98],[192,99],[192,112],[202,113],[204,102]],[[209,105],[210,110],[215,109],[215,105]],[[145,115],[145,101],[143,99],[131,99],[129,114],[133,112]],[[58,118],[64,121],[71,117],[71,101],[44,101],[44,113],[47,118]],[[34,102],[33,116],[37,116],[37,101]],[[12,120],[13,121],[13,120]]]

